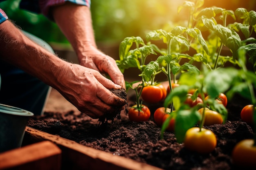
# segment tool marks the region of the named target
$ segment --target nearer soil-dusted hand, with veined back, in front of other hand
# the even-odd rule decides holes
[[[121,86],[91,68],[68,63],[59,70],[57,77],[58,84],[55,88],[79,111],[93,119],[111,112],[116,106],[126,104],[125,99],[108,90],[121,89]]]

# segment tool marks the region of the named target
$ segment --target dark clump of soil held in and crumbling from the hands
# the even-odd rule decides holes
[[[125,101],[127,100],[127,93],[126,90],[124,88],[121,89],[110,89],[110,91],[117,95],[118,97],[120,97],[121,99],[125,99]],[[114,122],[114,119],[121,119],[120,113],[121,110],[124,106],[115,106],[112,112],[109,113],[105,113],[105,115],[103,117],[99,118],[99,122],[100,124],[105,124],[107,123],[109,120]]]

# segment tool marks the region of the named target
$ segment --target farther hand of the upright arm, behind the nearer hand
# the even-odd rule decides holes
[[[94,46],[88,46],[87,50],[79,55],[79,58],[82,66],[92,68],[100,73],[107,73],[115,84],[125,88],[124,75],[112,57],[102,53]]]

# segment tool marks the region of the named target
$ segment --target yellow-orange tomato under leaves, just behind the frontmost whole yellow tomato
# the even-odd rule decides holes
[[[200,108],[198,110],[198,112],[202,115],[203,114],[203,109],[204,108]],[[222,124],[223,119],[222,116],[220,115],[220,113],[213,111],[213,110],[209,110],[209,108],[205,108],[204,110],[204,126],[210,126],[210,125],[214,125],[214,124]]]

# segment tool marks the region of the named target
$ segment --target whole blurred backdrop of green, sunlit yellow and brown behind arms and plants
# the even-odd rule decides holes
[[[91,0],[91,12],[95,39],[101,51],[115,60],[119,59],[119,44],[124,38],[140,36],[146,33],[182,25],[188,13],[178,6],[185,0]],[[48,42],[59,57],[77,63],[70,43],[58,29],[58,26],[41,14],[19,9],[20,0],[7,0],[0,8],[9,19],[15,21],[21,29]],[[256,11],[256,0],[205,0],[204,7],[222,7],[235,11],[238,7],[247,11]]]

